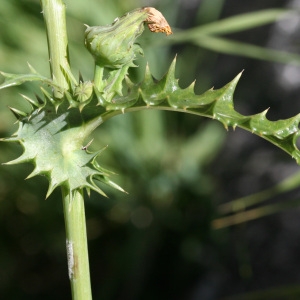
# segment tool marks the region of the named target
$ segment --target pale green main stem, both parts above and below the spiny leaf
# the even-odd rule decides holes
[[[61,0],[41,0],[46,23],[50,69],[53,81],[62,89],[54,89],[54,97],[61,98],[69,88],[65,74],[71,74],[68,61],[68,39],[65,4]],[[74,195],[62,188],[68,270],[73,300],[92,299],[86,237],[84,199],[82,192]]]

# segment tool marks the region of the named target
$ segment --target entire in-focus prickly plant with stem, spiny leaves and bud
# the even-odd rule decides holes
[[[41,94],[23,95],[31,110],[25,113],[10,108],[17,118],[18,130],[4,142],[22,145],[20,157],[7,164],[32,163],[36,175],[49,180],[48,197],[61,188],[66,224],[68,270],[73,299],[91,299],[86,241],[84,196],[91,190],[106,196],[99,183],[124,192],[111,180],[111,171],[102,167],[99,156],[91,152],[92,133],[106,120],[127,112],[159,109],[208,117],[226,129],[240,127],[270,141],[290,154],[299,164],[297,148],[300,115],[269,121],[267,111],[244,116],[234,109],[233,94],[241,74],[220,89],[202,95],[194,93],[194,83],[182,89],[175,78],[176,59],[160,80],[146,67],[144,79],[134,83],[129,68],[142,55],[136,39],[148,25],[152,32],[172,33],[167,21],[154,8],[139,8],[117,18],[111,25],[86,26],[85,46],[95,60],[93,80],[77,80],[71,72],[65,26],[65,6],[61,0],[42,0],[48,36],[51,78],[30,67],[29,74],[1,72],[0,88],[40,81]],[[50,87],[50,88],[49,88]]]

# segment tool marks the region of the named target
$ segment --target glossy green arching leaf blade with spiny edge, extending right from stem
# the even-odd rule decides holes
[[[130,84],[128,95],[115,98],[114,106],[106,105],[110,113],[121,109],[121,112],[137,111],[141,109],[156,108],[161,110],[179,111],[196,114],[220,121],[226,129],[240,127],[270,141],[277,147],[286,151],[300,164],[300,151],[297,148],[297,139],[300,136],[300,115],[286,120],[270,121],[267,111],[244,116],[234,109],[233,94],[240,79],[241,73],[224,87],[210,89],[202,95],[196,95],[193,84],[181,89],[175,78],[175,60],[167,74],[159,81],[155,80],[146,68],[144,80],[136,85]],[[134,99],[134,100],[133,100]]]

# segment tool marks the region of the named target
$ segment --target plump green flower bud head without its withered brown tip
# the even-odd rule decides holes
[[[140,8],[116,19],[112,25],[87,27],[85,46],[96,64],[119,69],[132,63],[136,54],[142,53],[134,42],[143,32],[147,17],[147,12]]]

